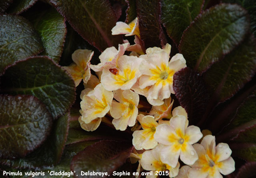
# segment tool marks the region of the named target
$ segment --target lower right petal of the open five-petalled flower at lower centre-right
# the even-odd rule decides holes
[[[188,165],[192,165],[198,160],[198,155],[192,145],[187,144],[186,150],[181,150],[180,160]]]

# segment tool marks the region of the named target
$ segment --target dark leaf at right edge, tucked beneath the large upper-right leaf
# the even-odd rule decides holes
[[[223,102],[250,81],[255,72],[256,43],[253,36],[248,36],[242,44],[205,72],[205,81],[212,98]]]

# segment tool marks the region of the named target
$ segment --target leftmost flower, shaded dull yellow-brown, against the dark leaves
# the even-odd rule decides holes
[[[75,50],[72,54],[72,60],[74,63],[70,64],[70,66],[63,67],[71,74],[76,86],[78,86],[82,79],[84,83],[89,80],[91,76],[89,65],[93,53],[94,52],[91,50]]]

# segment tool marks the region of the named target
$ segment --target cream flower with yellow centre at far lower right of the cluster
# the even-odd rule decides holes
[[[188,172],[189,178],[222,178],[235,170],[235,162],[230,156],[232,151],[228,144],[219,143],[216,146],[215,137],[207,135],[201,144],[194,144],[198,160]],[[220,174],[221,173],[221,174]]]

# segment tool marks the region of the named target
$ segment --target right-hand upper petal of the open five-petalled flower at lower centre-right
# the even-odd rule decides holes
[[[185,135],[189,136],[189,144],[194,144],[198,142],[203,136],[203,134],[200,131],[200,128],[197,126],[189,126],[188,128],[186,128]]]

